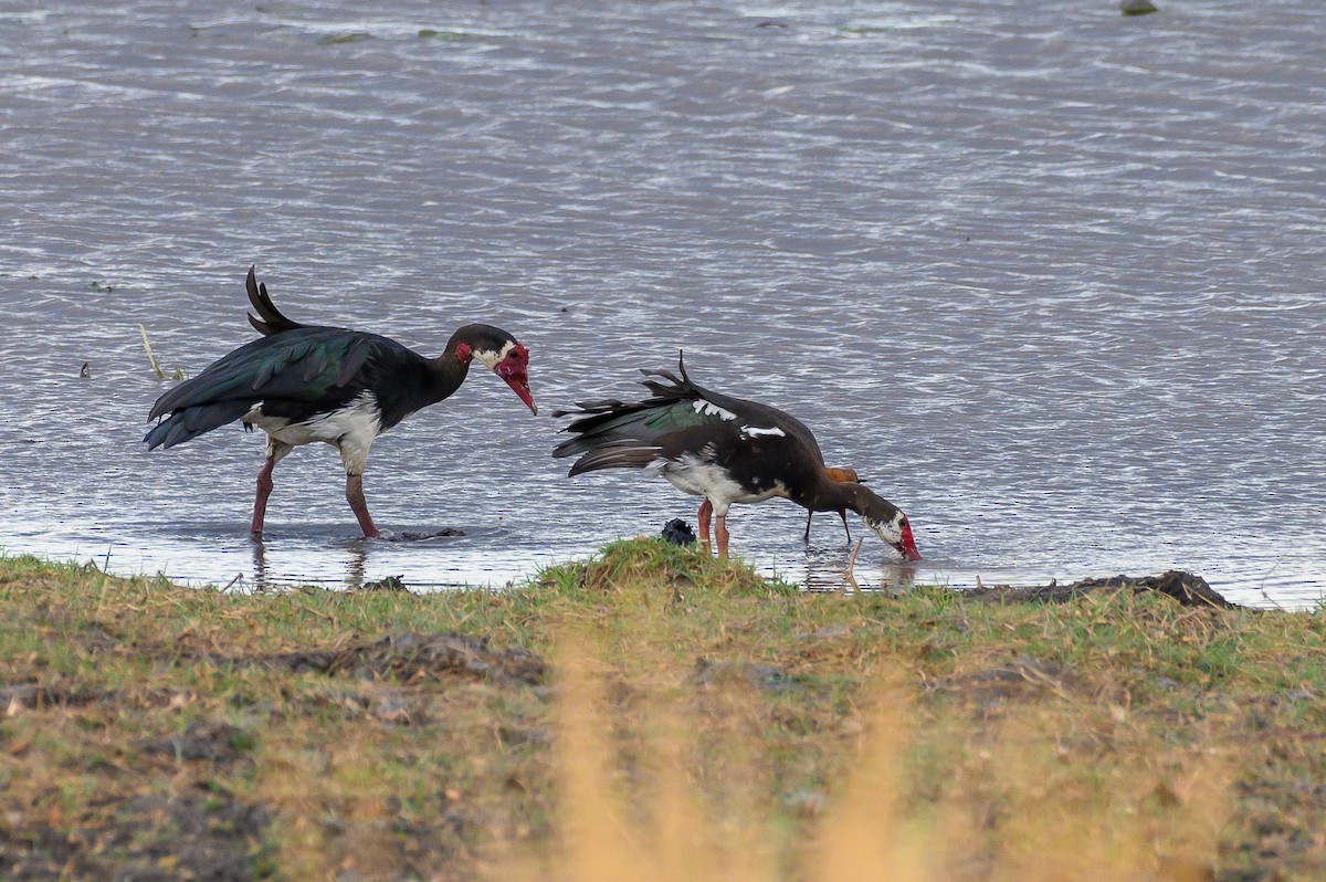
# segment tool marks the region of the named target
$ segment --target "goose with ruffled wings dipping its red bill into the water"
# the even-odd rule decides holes
[[[709,519],[719,556],[728,554],[728,508],[733,503],[761,503],[782,496],[812,512],[862,516],[904,558],[920,560],[911,524],[896,505],[855,481],[835,481],[825,470],[814,435],[781,410],[691,382],[678,359],[680,377],[670,371],[642,371],[651,398],[634,403],[583,402],[578,410],[554,416],[575,416],[562,431],[553,456],[579,456],[570,475],[601,468],[642,468],[662,475],[678,489],[703,496],[700,540],[709,545]]]

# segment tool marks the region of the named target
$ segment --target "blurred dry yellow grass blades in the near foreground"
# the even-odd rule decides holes
[[[640,610],[636,610],[639,613]],[[646,613],[635,629],[666,633]],[[1069,699],[1033,707],[957,745],[968,749],[934,800],[918,798],[910,764],[926,732],[906,670],[884,666],[863,690],[861,725],[841,747],[834,794],[788,837],[782,806],[753,798],[768,757],[760,737],[732,729],[679,695],[686,671],[651,664],[630,707],[607,698],[619,675],[585,633],[564,639],[557,664],[557,836],[499,861],[493,879],[566,882],[1197,882],[1212,879],[1219,838],[1235,810],[1229,747],[1155,743],[1109,769],[1083,772],[1057,739],[1099,725],[1099,708]],[[648,651],[648,650],[646,650]],[[618,687],[621,690],[621,686]],[[749,690],[721,715],[757,716]],[[636,711],[634,708],[644,708]],[[1105,708],[1114,723],[1126,715]],[[622,719],[622,718],[631,719]],[[708,719],[707,719],[708,718]],[[1120,719],[1124,718],[1124,719]],[[696,722],[703,720],[703,727]],[[731,720],[728,720],[731,723]],[[727,731],[717,780],[704,773],[707,732]],[[630,729],[635,741],[614,743]],[[643,733],[650,733],[644,736]],[[951,733],[949,733],[951,735]],[[740,736],[736,736],[740,739]],[[709,743],[713,748],[712,741]],[[642,759],[643,757],[643,759]],[[1172,788],[1159,784],[1164,767]],[[627,771],[630,769],[630,772]],[[1087,776],[1090,777],[1090,776]],[[721,793],[713,793],[717,785]],[[1159,788],[1159,789],[1158,789]],[[733,796],[736,790],[736,796]]]

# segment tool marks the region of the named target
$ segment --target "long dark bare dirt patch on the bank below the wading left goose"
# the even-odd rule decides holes
[[[492,650],[488,638],[464,634],[415,634],[402,631],[373,643],[339,650],[281,653],[256,658],[227,659],[236,664],[265,664],[292,672],[359,678],[394,676],[406,682],[423,678],[472,676],[497,683],[544,680],[544,661],[520,647]]]

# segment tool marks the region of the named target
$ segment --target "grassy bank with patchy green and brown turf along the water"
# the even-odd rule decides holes
[[[1319,879],[1326,622],[802,594],[658,541],[493,594],[0,561],[0,877]]]

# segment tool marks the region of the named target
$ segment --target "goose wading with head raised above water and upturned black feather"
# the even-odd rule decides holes
[[[369,538],[381,531],[363,499],[363,468],[373,440],[402,419],[452,395],[476,358],[496,373],[534,414],[529,350],[492,325],[465,325],[436,358],[394,340],[345,328],[317,328],[286,318],[272,304],[253,268],[245,280],[263,336],[207,366],[156,399],[147,450],[174,447],[233,420],[267,434],[249,531],[263,536],[272,470],[294,447],[326,442],[341,451],[345,497]]]

